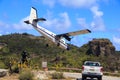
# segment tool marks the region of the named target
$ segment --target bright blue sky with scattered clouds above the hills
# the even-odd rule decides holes
[[[92,33],[74,36],[71,44],[82,46],[94,38],[109,39],[120,51],[120,0],[0,0],[0,36],[11,33],[40,34],[24,23],[35,7],[39,22],[56,33],[90,29]]]

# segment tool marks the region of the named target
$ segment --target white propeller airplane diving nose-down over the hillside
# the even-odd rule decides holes
[[[53,43],[55,43],[57,46],[69,50],[69,46],[67,45],[66,40],[71,41],[70,36],[75,36],[79,34],[86,34],[86,33],[91,33],[89,29],[85,30],[79,30],[79,31],[74,31],[74,32],[69,32],[69,33],[64,33],[64,34],[58,34],[56,35],[55,33],[41,27],[38,25],[39,21],[46,21],[45,18],[38,18],[37,15],[37,10],[32,7],[29,20],[24,21],[26,24],[31,24],[34,29],[36,29],[40,34],[42,34],[45,38],[48,40],[51,40]]]

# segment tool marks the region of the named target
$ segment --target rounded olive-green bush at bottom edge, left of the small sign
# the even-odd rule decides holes
[[[34,75],[30,70],[25,70],[20,73],[19,80],[34,80]]]

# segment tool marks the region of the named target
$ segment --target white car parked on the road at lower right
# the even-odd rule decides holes
[[[98,80],[102,80],[103,76],[103,67],[100,62],[94,61],[85,61],[82,66],[82,80],[86,80],[89,78],[97,78]]]

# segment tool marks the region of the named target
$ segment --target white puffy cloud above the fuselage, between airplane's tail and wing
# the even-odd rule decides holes
[[[53,18],[53,15],[48,12],[47,21],[43,23],[43,26],[47,26],[49,28],[52,27],[52,29],[56,28],[57,30],[62,31],[71,26],[71,21],[67,12],[60,13],[58,18]]]

